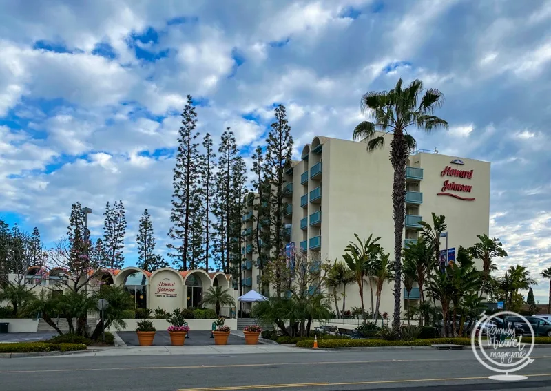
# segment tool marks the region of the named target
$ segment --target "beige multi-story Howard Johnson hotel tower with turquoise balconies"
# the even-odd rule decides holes
[[[362,239],[373,234],[381,237],[379,243],[393,258],[391,137],[385,136],[384,149],[371,153],[366,151],[366,142],[321,136],[304,145],[302,160],[293,161],[285,173],[288,204],[284,224],[289,227],[286,240],[295,252],[313,260],[342,260],[344,249],[355,240],[354,234]],[[489,162],[446,156],[437,151],[417,151],[408,158],[407,166],[404,245],[417,240],[419,222],[431,222],[433,212],[446,216],[450,256],[459,246],[472,246],[477,235],[488,234]],[[253,231],[256,224],[253,200],[247,205],[244,233]],[[441,248],[446,248],[445,237]],[[258,290],[258,254],[253,235],[245,235],[242,253],[244,293]],[[419,289],[414,288],[410,299],[418,298]],[[366,309],[369,303],[369,291],[364,290]],[[346,309],[353,306],[360,306],[360,297],[357,287],[351,284],[346,288]],[[392,311],[393,293],[391,284],[387,284],[380,312]]]

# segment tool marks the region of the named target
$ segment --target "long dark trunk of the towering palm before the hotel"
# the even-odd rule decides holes
[[[402,236],[406,219],[406,160],[408,146],[401,128],[394,131],[391,142],[391,163],[394,169],[392,201],[394,220],[394,319],[393,328],[400,329],[402,309]]]

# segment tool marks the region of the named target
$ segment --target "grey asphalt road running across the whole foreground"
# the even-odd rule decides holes
[[[550,390],[551,348],[526,381],[497,382],[469,350],[337,350],[314,354],[2,359],[6,391]]]

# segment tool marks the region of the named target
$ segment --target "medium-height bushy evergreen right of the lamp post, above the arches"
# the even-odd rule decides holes
[[[126,218],[125,207],[118,201],[110,207],[105,205],[105,221],[103,222],[103,244],[105,246],[105,266],[122,268],[124,264],[123,249],[125,246]]]

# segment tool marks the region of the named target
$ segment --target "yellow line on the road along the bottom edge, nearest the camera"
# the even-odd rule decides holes
[[[525,374],[526,377],[548,377],[551,373]],[[178,391],[229,391],[229,390],[259,390],[262,388],[298,388],[298,387],[326,387],[329,385],[368,385],[389,383],[422,383],[428,381],[464,381],[486,380],[487,376],[479,377],[448,377],[437,379],[404,379],[404,380],[377,380],[377,381],[347,381],[342,383],[294,383],[294,384],[262,384],[262,385],[233,385],[231,387],[180,388]]]

